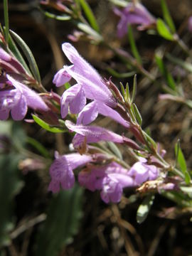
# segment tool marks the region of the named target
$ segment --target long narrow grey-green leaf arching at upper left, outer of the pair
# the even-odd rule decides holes
[[[23,39],[20,36],[18,36],[14,31],[10,30],[10,33],[11,36],[13,36],[13,38],[15,39],[16,43],[18,43],[18,46],[20,46],[21,49],[23,50],[23,53],[26,55],[34,78],[36,78],[36,80],[41,84],[41,77],[38,71],[38,65],[36,64],[36,60],[33,57],[33,53],[31,52],[30,48],[28,48]]]

